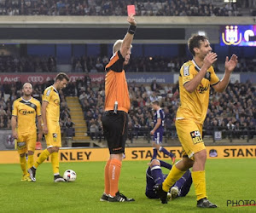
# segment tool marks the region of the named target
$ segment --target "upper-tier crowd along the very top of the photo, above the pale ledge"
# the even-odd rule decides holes
[[[5,15],[126,15],[126,5],[134,4],[137,15],[145,16],[234,16],[237,8],[252,9],[252,0],[219,3],[212,0],[1,0]]]

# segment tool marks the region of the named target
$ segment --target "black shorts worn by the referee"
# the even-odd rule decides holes
[[[110,154],[125,153],[125,141],[128,135],[128,114],[113,110],[104,112],[102,116],[104,136],[108,141]]]

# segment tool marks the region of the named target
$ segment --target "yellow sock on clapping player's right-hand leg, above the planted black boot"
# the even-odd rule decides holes
[[[192,171],[191,176],[195,186],[196,200],[207,198],[206,172]]]

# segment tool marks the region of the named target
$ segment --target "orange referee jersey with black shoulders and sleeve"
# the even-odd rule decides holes
[[[130,97],[124,70],[125,59],[120,51],[116,52],[105,67],[105,111],[113,110],[118,101],[118,110],[128,112]]]

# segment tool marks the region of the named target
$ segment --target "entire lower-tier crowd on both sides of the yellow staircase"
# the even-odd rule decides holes
[[[34,85],[33,96],[41,100],[44,88],[53,82]],[[21,83],[0,85],[0,128],[10,128],[11,106],[21,95]],[[154,112],[151,102],[160,101],[166,114],[166,136],[177,137],[175,115],[179,105],[178,85],[163,86],[153,82],[150,86],[129,84],[131,111],[129,112],[130,139],[147,136],[153,126]],[[6,96],[7,95],[7,96]],[[69,83],[61,92],[61,132],[73,136],[73,124],[65,96],[77,95],[84,111],[87,134],[92,139],[102,139],[102,113],[104,112],[104,86],[91,83],[89,75],[76,83]],[[212,92],[209,109],[204,124],[204,135],[212,135],[212,130],[221,130],[224,137],[253,138],[256,127],[256,89],[249,82],[230,83],[223,94]],[[72,128],[72,129],[70,129]],[[71,132],[71,133],[70,133]]]

